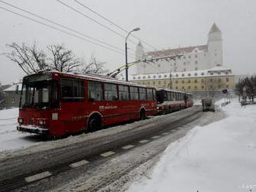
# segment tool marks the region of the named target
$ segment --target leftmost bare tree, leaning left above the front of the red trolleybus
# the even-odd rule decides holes
[[[5,53],[6,57],[17,63],[26,74],[34,74],[47,67],[46,55],[43,50],[37,48],[36,43],[32,46],[27,46],[25,43],[21,46],[17,43],[6,46],[12,50],[11,53]]]

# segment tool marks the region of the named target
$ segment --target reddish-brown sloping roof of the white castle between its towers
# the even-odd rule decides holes
[[[201,45],[201,46],[187,46],[187,47],[181,47],[181,48],[176,48],[176,49],[170,49],[170,50],[157,50],[157,51],[152,51],[148,52],[148,56],[168,56],[171,54],[178,55],[181,53],[191,53],[193,50],[198,48],[199,50],[208,50],[207,45]]]

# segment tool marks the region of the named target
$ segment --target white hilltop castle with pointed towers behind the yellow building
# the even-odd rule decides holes
[[[138,43],[136,60],[157,57],[168,57],[182,54],[181,59],[167,61],[160,59],[154,63],[138,63],[136,74],[161,74],[167,72],[183,72],[190,70],[206,70],[223,65],[223,39],[218,26],[213,23],[208,33],[206,45],[188,46],[171,50],[144,52],[142,43]]]

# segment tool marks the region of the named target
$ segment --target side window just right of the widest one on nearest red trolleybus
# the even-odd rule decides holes
[[[88,81],[88,99],[89,101],[103,100],[102,83],[97,81]]]

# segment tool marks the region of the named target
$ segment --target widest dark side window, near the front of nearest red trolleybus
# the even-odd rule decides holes
[[[85,99],[83,81],[74,79],[61,79],[61,93],[64,101],[82,101]]]

